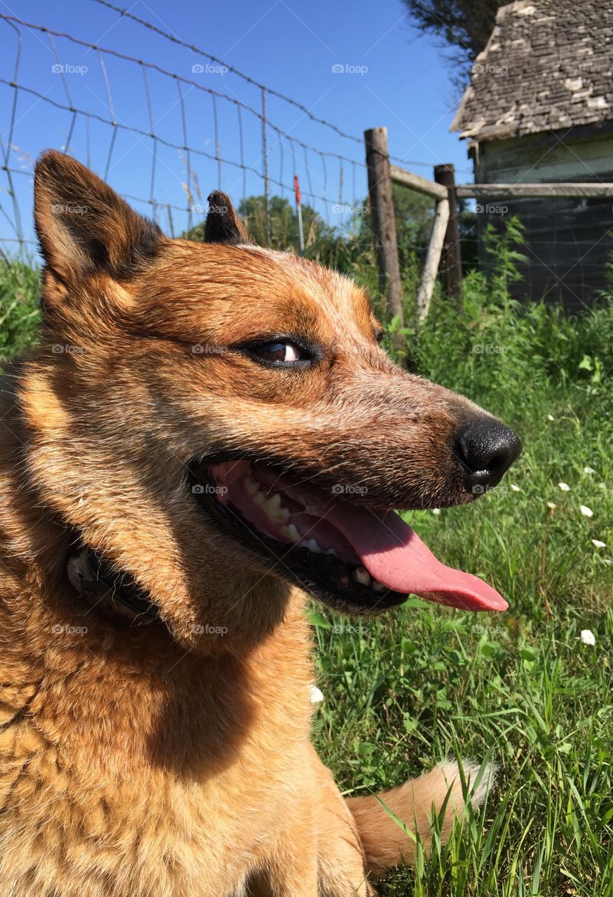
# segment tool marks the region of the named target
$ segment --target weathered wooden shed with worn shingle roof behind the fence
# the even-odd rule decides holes
[[[613,3],[502,6],[452,130],[470,141],[475,184],[613,181]],[[478,230],[517,214],[530,261],[518,294],[583,309],[609,283],[613,200],[479,200]]]

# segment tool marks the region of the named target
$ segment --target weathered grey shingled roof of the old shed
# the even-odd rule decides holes
[[[609,120],[613,3],[517,0],[498,10],[451,130],[493,140]]]

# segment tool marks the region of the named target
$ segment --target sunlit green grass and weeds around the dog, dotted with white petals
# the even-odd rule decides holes
[[[387,897],[613,895],[613,306],[569,320],[515,304],[510,251],[489,283],[467,278],[462,308],[439,297],[408,338],[414,370],[512,425],[523,455],[471,507],[407,517],[509,611],[410,598],[359,622],[316,609],[315,743],[344,791],[392,787],[450,755],[498,764],[488,806],[419,874],[378,884]],[[4,354],[32,338],[37,282],[28,266],[0,267]]]

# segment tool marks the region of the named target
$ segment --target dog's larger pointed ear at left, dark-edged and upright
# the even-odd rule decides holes
[[[134,276],[163,239],[108,184],[64,152],[47,150],[34,174],[34,222],[47,270],[63,283],[89,274]]]

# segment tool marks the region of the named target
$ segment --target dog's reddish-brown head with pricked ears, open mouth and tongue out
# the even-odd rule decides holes
[[[471,501],[519,440],[395,367],[361,289],[250,245],[222,194],[202,244],[165,238],[59,152],[39,161],[35,194],[30,473],[180,637],[257,637],[288,584],[353,612],[409,592],[505,607],[393,509]]]

